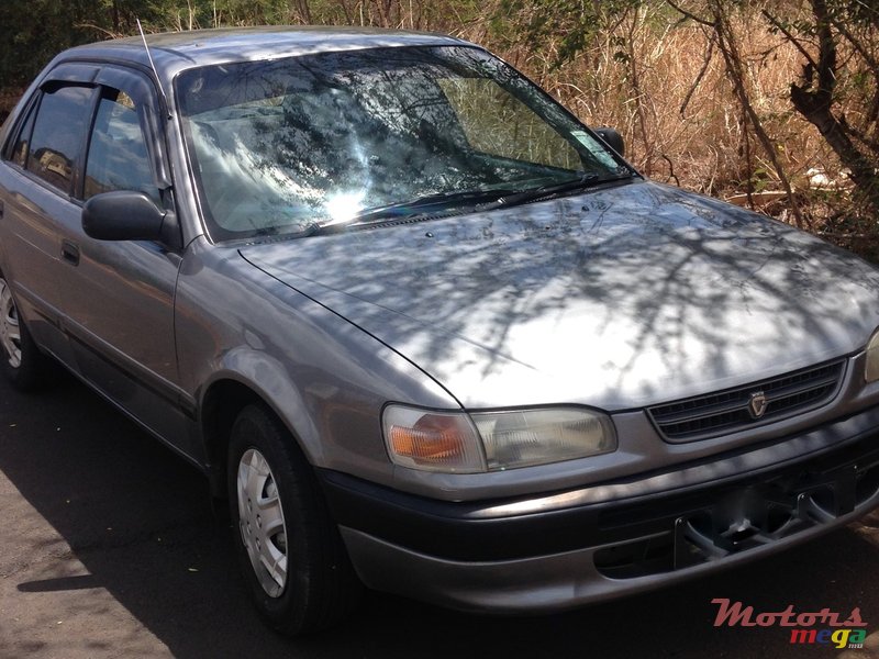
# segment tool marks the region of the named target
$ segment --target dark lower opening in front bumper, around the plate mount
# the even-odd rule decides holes
[[[668,573],[828,527],[877,504],[879,448],[869,434],[737,482],[608,507],[592,532],[602,545],[596,568],[610,579]]]

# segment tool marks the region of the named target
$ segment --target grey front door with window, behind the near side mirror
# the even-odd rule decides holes
[[[170,187],[157,172],[163,141],[152,85],[140,74],[105,67],[98,81],[80,199],[113,190],[144,192],[173,211]],[[120,223],[125,217],[119,217]],[[148,241],[97,241],[81,220],[64,222],[65,323],[79,372],[114,402],[181,450],[191,405],[178,387],[174,293],[181,257]]]

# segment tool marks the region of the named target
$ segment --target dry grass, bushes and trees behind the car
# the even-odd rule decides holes
[[[879,261],[879,0],[0,0],[0,119],[55,53],[136,18],[461,36],[616,127],[645,175]]]

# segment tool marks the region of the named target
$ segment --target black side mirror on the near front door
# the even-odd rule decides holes
[[[174,213],[160,210],[143,192],[130,190],[89,199],[82,206],[82,231],[98,241],[157,241],[173,247],[179,243]]]

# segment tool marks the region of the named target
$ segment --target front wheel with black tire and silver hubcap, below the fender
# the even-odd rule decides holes
[[[344,619],[361,585],[310,465],[262,405],[232,427],[227,485],[235,552],[268,625],[294,636]]]

